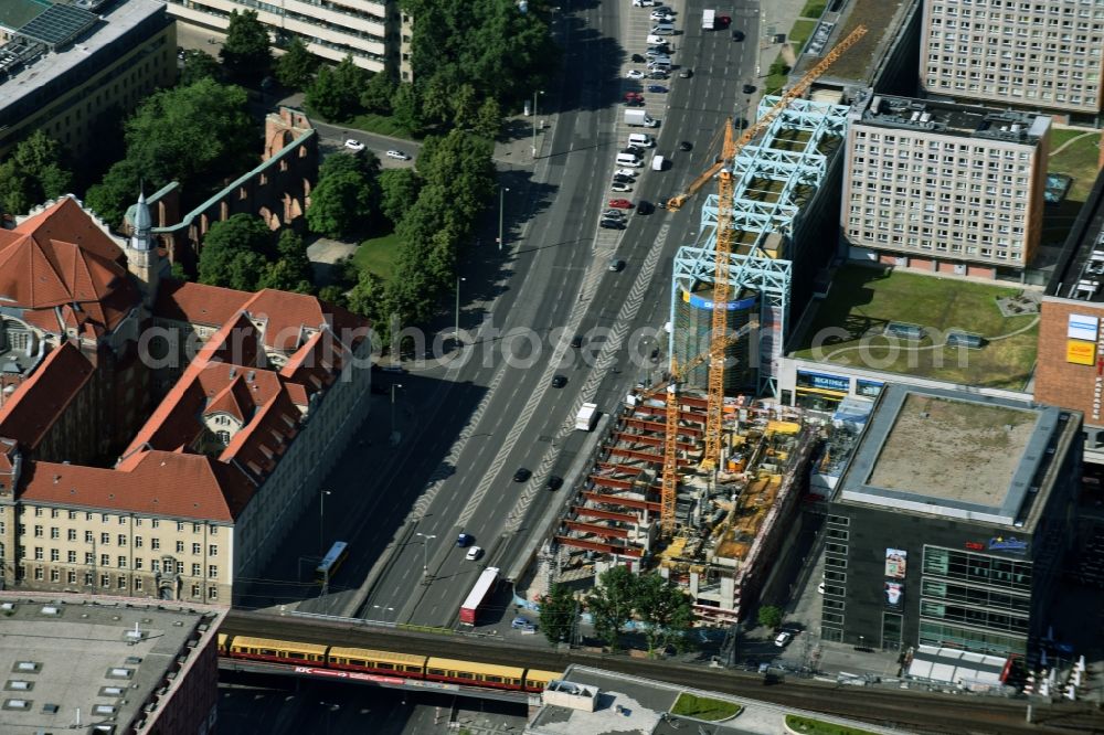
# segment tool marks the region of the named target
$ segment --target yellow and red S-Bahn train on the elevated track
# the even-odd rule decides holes
[[[561,677],[558,671],[225,633],[219,633],[219,656],[518,692],[543,692],[550,681]]]

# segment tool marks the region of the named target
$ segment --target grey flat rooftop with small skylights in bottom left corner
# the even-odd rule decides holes
[[[171,603],[62,597],[0,593],[0,732],[62,732],[77,711],[86,726],[108,721],[129,732],[167,675],[176,678],[170,670],[191,652],[188,642],[214,636],[225,615]]]

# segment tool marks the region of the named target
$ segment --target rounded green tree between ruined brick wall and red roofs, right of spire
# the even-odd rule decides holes
[[[200,248],[199,281],[243,291],[257,290],[273,259],[272,232],[264,220],[235,214],[211,225]]]

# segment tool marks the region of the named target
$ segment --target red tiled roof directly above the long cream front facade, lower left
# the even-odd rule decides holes
[[[23,478],[24,501],[225,522],[254,491],[215,459],[170,451],[136,452],[117,469],[31,462]]]

